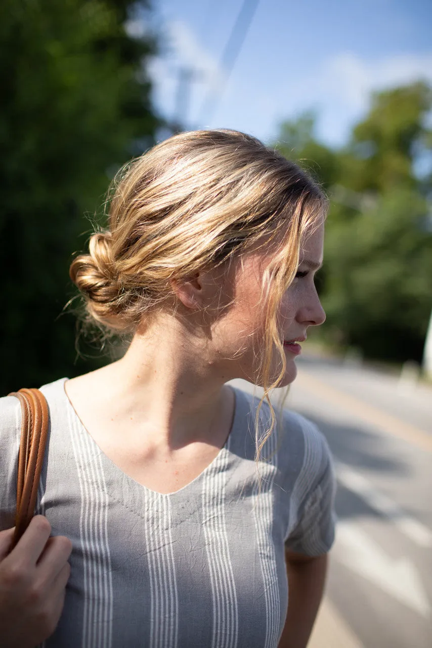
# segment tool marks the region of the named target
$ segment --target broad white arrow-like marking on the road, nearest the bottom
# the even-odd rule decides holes
[[[387,592],[418,614],[429,618],[431,607],[422,581],[407,558],[392,559],[353,522],[341,520],[336,528],[335,559]]]

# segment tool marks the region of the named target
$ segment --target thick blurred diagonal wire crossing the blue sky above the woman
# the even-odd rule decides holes
[[[259,0],[244,0],[240,12],[238,12],[237,19],[220,59],[220,67],[225,71],[225,84],[229,80],[229,76],[233,71],[238,54],[240,54],[243,47],[243,43],[249,27],[251,26],[258,3]],[[205,98],[203,105],[201,106],[198,119],[200,124],[205,124],[210,121],[214,115],[214,111],[216,110],[217,100],[220,98],[220,95],[222,95],[222,87],[213,86],[212,89],[210,89],[207,98]]]

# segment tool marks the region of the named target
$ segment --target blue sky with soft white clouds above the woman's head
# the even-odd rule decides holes
[[[223,47],[243,0],[155,0],[153,26],[163,50],[153,60],[153,102],[176,110],[178,71],[193,67],[187,128],[235,128],[266,142],[278,124],[317,112],[317,135],[346,141],[370,91],[432,82],[432,3],[420,0],[261,0],[229,78]],[[130,30],[145,29],[137,19]],[[214,110],[201,114],[212,91]]]

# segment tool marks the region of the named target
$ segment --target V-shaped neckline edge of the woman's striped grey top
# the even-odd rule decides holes
[[[194,477],[193,480],[190,480],[187,484],[182,486],[181,488],[177,489],[176,491],[172,492],[159,492],[151,489],[150,487],[142,484],[141,482],[135,480],[133,477],[131,477],[127,472],[124,472],[117,463],[115,463],[112,459],[108,457],[107,454],[105,454],[104,450],[98,445],[97,441],[93,439],[92,435],[89,433],[87,428],[85,428],[84,423],[81,421],[80,417],[78,416],[78,413],[76,413],[75,408],[72,404],[72,401],[69,399],[69,396],[67,395],[67,392],[65,390],[65,383],[69,380],[69,378],[63,378],[62,379],[62,395],[65,399],[65,405],[67,410],[69,410],[69,414],[71,417],[73,417],[74,422],[76,423],[76,426],[80,432],[81,435],[85,436],[85,439],[87,441],[87,444],[90,445],[91,449],[93,452],[95,452],[98,456],[100,456],[101,461],[105,464],[108,473],[111,474],[114,478],[114,481],[117,483],[119,481],[124,481],[130,485],[130,487],[133,488],[134,491],[137,491],[139,494],[148,494],[149,496],[153,497],[162,497],[162,498],[172,498],[175,497],[177,494],[182,494],[185,492],[187,489],[193,489],[194,485],[198,483],[198,481],[203,480],[205,476],[207,475],[208,472],[210,472],[212,469],[216,468],[216,465],[218,463],[221,463],[222,459],[226,456],[227,453],[229,453],[229,447],[231,446],[232,440],[233,440],[233,435],[238,427],[239,424],[239,419],[240,419],[240,395],[238,393],[238,389],[234,388],[232,385],[229,387],[233,390],[234,393],[234,414],[233,414],[233,419],[231,422],[231,428],[229,430],[229,434],[227,435],[227,438],[225,439],[225,443],[223,444],[222,448],[220,448],[218,454],[216,454],[215,457],[213,457],[212,461],[207,464],[199,472],[199,474]]]

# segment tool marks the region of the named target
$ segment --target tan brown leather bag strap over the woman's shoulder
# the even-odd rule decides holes
[[[22,412],[13,549],[34,515],[47,444],[49,409],[47,399],[39,389],[23,388],[12,391],[9,396],[19,399]]]

